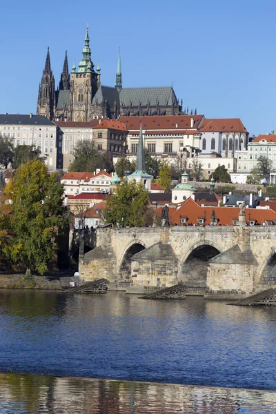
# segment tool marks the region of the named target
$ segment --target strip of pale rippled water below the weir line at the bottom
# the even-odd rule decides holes
[[[1,414],[274,413],[269,391],[0,374]]]

